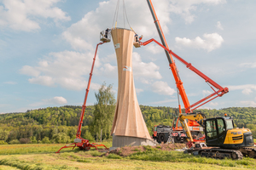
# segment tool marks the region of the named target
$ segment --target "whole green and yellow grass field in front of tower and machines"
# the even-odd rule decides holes
[[[108,147],[110,142],[103,143]],[[256,169],[256,160],[217,160],[191,156],[178,151],[139,151],[121,157],[96,150],[66,149],[55,154],[64,144],[0,145],[0,169]]]

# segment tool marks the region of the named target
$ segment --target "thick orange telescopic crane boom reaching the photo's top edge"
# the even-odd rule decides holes
[[[165,47],[165,52],[166,52],[166,57],[169,61],[169,65],[170,65],[170,68],[172,70],[172,74],[173,74],[173,77],[175,79],[175,82],[176,82],[176,86],[177,86],[177,89],[178,89],[178,92],[181,96],[181,98],[183,99],[183,105],[185,108],[189,108],[189,99],[187,97],[187,94],[185,92],[185,89],[183,88],[183,82],[181,81],[179,75],[178,75],[178,71],[177,71],[177,67],[175,65],[175,63],[173,62],[173,59],[172,59],[172,55],[169,53],[170,49],[167,45],[167,42],[166,42],[166,37],[161,29],[161,26],[160,26],[160,22],[157,18],[157,15],[155,14],[155,11],[154,11],[154,6],[153,6],[153,3],[151,2],[151,0],[147,0],[148,2],[148,7],[150,8],[150,12],[153,16],[153,19],[154,19],[154,24],[156,26],[156,29],[159,33],[159,36],[160,36],[160,40],[163,44],[163,46]],[[181,105],[178,105],[179,107],[179,112],[181,113]],[[191,112],[190,109],[188,109],[188,112]]]

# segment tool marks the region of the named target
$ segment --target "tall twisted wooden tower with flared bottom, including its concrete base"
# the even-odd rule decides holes
[[[123,28],[114,28],[111,34],[119,75],[117,104],[111,131],[113,147],[141,145],[142,143],[148,145],[148,140],[151,142],[152,139],[137,102],[132,74],[132,48],[135,33]]]

